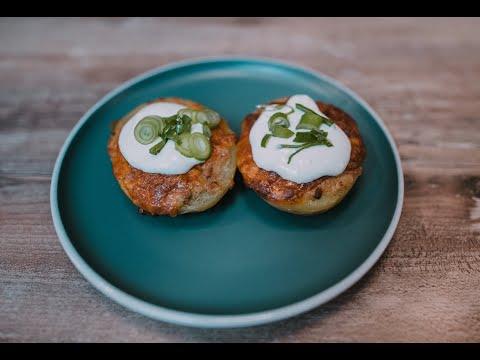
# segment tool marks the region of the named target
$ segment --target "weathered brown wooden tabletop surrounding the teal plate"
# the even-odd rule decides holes
[[[480,341],[479,19],[0,19],[0,341]],[[52,226],[57,153],[130,77],[213,55],[275,57],[358,92],[402,158],[396,234],[353,288],[247,329],[153,321],[97,292]]]

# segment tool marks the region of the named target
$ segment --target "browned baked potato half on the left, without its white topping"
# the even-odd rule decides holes
[[[118,139],[123,125],[140,108],[154,102],[173,102],[201,110],[202,105],[179,98],[160,98],[140,105],[117,121],[108,142],[112,169],[123,192],[141,213],[176,216],[200,212],[214,206],[233,187],[236,170],[236,138],[225,120],[212,129],[211,156],[185,174],[146,173],[132,167],[123,157]]]

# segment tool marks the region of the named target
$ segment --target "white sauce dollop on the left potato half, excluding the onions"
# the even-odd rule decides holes
[[[135,140],[135,125],[145,116],[172,116],[183,108],[185,106],[174,103],[154,103],[145,106],[130,118],[120,132],[118,145],[123,157],[131,166],[148,173],[178,175],[185,174],[192,167],[203,162],[183,156],[175,149],[175,143],[172,140],[168,140],[157,155],[150,154],[148,150],[159,143],[161,138],[148,145],[142,145]],[[202,125],[192,125],[191,132],[202,132]]]

